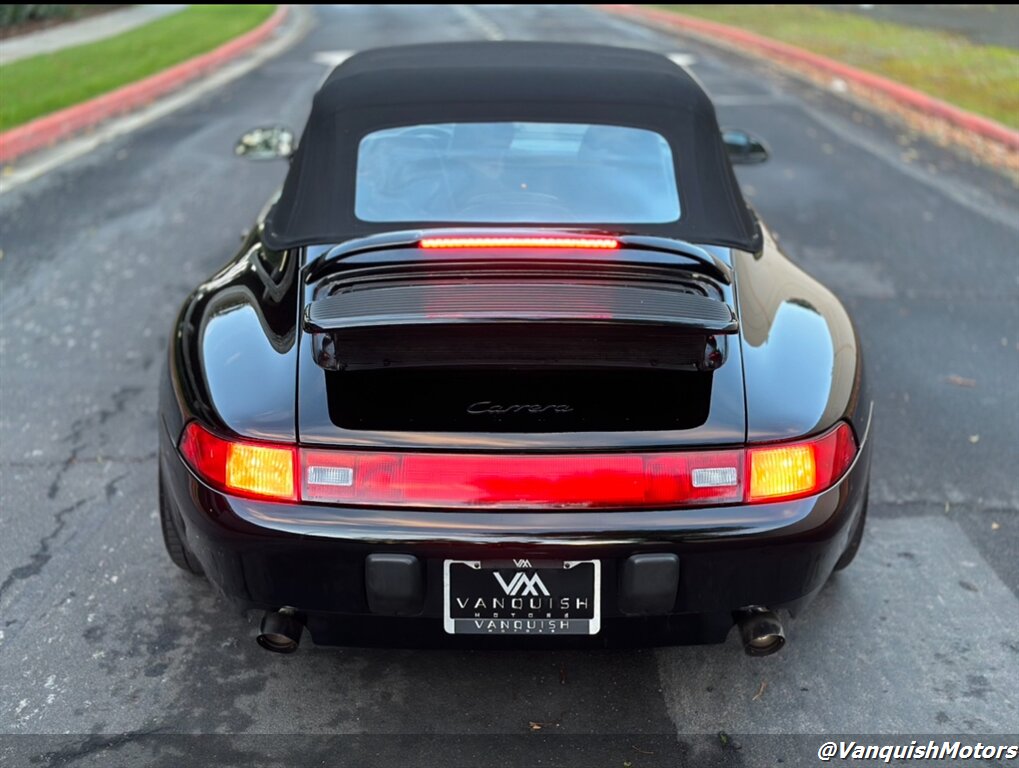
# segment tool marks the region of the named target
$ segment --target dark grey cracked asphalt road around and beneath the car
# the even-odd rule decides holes
[[[815,765],[821,734],[1019,732],[1016,187],[810,87],[583,8],[315,13],[261,68],[0,196],[0,763],[788,766]],[[687,55],[723,122],[770,144],[740,171],[749,197],[856,318],[870,524],[775,656],[743,656],[735,633],[274,656],[162,551],[166,333],[284,173],[233,141],[300,126],[322,52],[478,38]]]

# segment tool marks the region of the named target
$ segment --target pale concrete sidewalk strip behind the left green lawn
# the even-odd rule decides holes
[[[41,53],[53,53],[62,48],[112,38],[114,35],[133,30],[136,26],[155,21],[186,7],[186,5],[133,5],[123,10],[101,13],[98,16],[83,18],[81,21],[70,21],[31,35],[10,38],[0,42],[0,65]]]

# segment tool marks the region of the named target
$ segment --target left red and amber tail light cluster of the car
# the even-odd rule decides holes
[[[235,496],[298,500],[296,446],[224,440],[192,422],[180,453],[211,485]]]

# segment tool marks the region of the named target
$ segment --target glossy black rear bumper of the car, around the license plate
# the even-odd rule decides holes
[[[360,509],[227,496],[195,477],[161,432],[168,501],[214,587],[244,608],[297,608],[315,642],[325,645],[491,642],[444,634],[442,564],[493,557],[599,559],[603,629],[582,644],[721,642],[734,611],[758,605],[795,613],[820,590],[864,507],[870,464],[863,435],[838,485],[777,504],[551,513]],[[365,563],[378,553],[421,562],[424,599],[417,616],[370,610]],[[622,563],[642,553],[679,556],[677,597],[667,614],[628,616],[621,605]],[[528,639],[500,639],[516,646],[522,640]]]

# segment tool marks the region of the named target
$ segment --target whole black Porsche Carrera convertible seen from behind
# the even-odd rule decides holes
[[[174,563],[259,643],[785,643],[856,554],[857,334],[779,251],[700,86],[657,54],[359,53],[160,402]],[[291,156],[292,155],[292,156]]]

